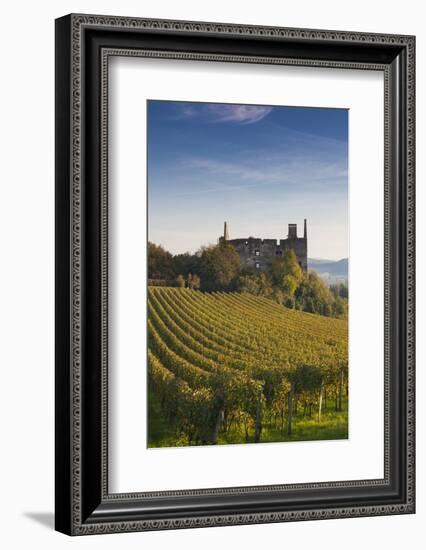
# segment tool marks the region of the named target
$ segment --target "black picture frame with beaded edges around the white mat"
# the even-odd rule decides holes
[[[385,475],[109,494],[106,76],[111,55],[374,69],[385,81]],[[56,20],[56,529],[118,533],[415,511],[415,38],[71,14]],[[368,197],[366,197],[368,200]]]

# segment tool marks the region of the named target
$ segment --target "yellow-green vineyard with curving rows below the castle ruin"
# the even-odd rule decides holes
[[[149,287],[148,348],[151,447],[347,437],[344,320]]]

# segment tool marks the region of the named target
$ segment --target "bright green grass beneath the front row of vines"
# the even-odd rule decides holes
[[[148,447],[182,447],[188,442],[178,437],[172,426],[164,418],[160,404],[154,394],[148,398]],[[293,417],[293,433],[287,435],[286,427],[281,431],[274,425],[265,422],[261,443],[278,443],[286,441],[318,441],[348,438],[348,403],[343,401],[343,411],[336,412],[330,404],[323,410],[321,422],[317,420],[316,411],[312,416],[303,416],[301,412]],[[221,433],[219,445],[253,443],[253,430],[249,432],[249,440],[246,441],[243,426],[232,426],[228,433]]]

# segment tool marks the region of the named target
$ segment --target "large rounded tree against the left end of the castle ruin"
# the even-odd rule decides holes
[[[240,256],[235,248],[221,242],[200,250],[202,290],[228,290],[240,273]]]

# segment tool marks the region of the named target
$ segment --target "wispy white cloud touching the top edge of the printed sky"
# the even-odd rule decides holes
[[[253,124],[264,119],[273,107],[262,105],[228,105],[222,103],[180,103],[179,118],[199,119],[207,124],[235,123]]]

